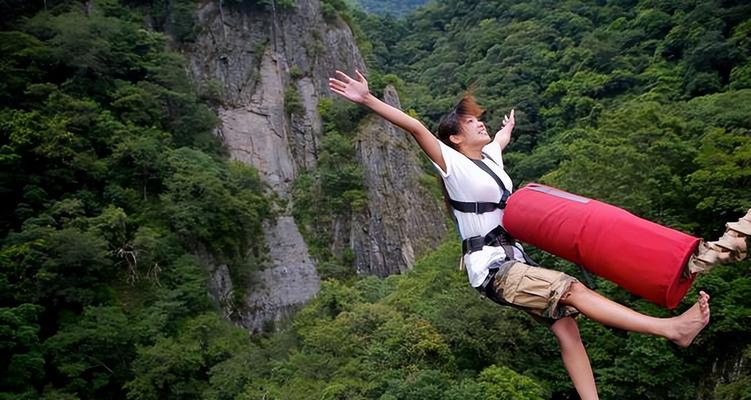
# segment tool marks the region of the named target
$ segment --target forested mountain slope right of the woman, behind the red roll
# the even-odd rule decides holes
[[[490,126],[516,109],[504,161],[517,185],[541,181],[706,238],[751,205],[747,2],[447,0],[404,21],[359,20],[371,62],[433,126],[468,89]],[[688,351],[585,328],[603,397],[747,395],[749,371],[732,365],[748,360],[749,303],[728,294],[748,290],[748,270],[746,261],[695,284],[719,297]]]

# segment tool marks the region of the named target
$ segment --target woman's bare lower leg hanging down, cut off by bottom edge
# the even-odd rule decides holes
[[[584,344],[579,336],[579,327],[576,325],[576,320],[571,317],[559,319],[550,327],[550,330],[558,339],[563,365],[566,367],[579,397],[582,400],[599,399],[592,366],[589,363],[587,350],[584,349]]]

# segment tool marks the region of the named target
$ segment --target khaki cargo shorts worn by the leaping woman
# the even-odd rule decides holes
[[[488,283],[485,295],[501,305],[520,308],[541,322],[553,323],[579,313],[575,307],[558,304],[578,280],[560,271],[509,261]]]

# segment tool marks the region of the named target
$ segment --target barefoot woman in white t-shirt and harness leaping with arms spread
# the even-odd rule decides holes
[[[499,225],[502,206],[512,191],[502,150],[511,139],[513,110],[491,139],[479,120],[483,110],[472,96],[465,96],[442,118],[436,138],[417,119],[373,96],[359,71],[356,76],[337,71],[329,80],[329,88],[414,136],[440,173],[454,207],[470,284],[493,301],[522,309],[549,326],[582,399],[597,399],[598,395],[573,318],[576,314],[607,326],[661,336],[681,347],[690,345],[709,323],[709,295],[704,292],[683,314],[655,318],[615,303],[562,272],[533,266],[521,246]]]

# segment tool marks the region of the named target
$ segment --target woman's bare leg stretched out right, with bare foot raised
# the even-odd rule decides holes
[[[709,295],[700,292],[699,300],[683,314],[673,318],[655,318],[622,306],[581,283],[571,284],[561,297],[563,304],[576,307],[582,314],[607,326],[631,332],[662,336],[687,347],[709,323]]]

